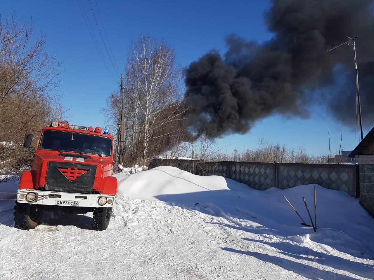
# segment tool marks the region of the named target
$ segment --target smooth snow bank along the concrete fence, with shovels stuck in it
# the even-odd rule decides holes
[[[245,230],[270,238],[301,243],[314,241],[314,246],[328,245],[353,255],[364,253],[370,256],[374,252],[374,243],[370,238],[374,220],[359,200],[345,192],[319,185],[316,185],[317,233],[311,227],[300,224],[300,218],[283,198],[283,195],[286,196],[304,221],[311,224],[302,197],[305,197],[313,215],[313,185],[259,191],[221,176],[198,176],[175,167],[162,166],[120,181],[119,194],[159,200],[224,217],[245,227]]]

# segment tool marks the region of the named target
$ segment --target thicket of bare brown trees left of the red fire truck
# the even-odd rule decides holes
[[[0,17],[0,174],[27,168],[32,154],[22,150],[26,131],[36,136],[64,113],[61,95],[51,94],[59,86],[61,63],[45,51],[45,42],[33,22]]]

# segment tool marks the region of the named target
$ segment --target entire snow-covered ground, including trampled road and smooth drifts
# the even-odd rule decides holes
[[[317,186],[317,233],[283,199],[310,223],[312,185],[257,191],[157,167],[120,180],[119,194],[105,231],[59,213],[17,230],[14,202],[0,202],[1,279],[374,278],[374,219],[344,192]]]

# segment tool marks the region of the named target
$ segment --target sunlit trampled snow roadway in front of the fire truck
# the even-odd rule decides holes
[[[285,257],[281,250],[264,244],[272,241],[269,236],[249,232],[249,228],[239,227],[223,217],[193,209],[118,196],[107,230],[85,229],[91,215],[79,215],[74,223],[65,216],[47,215],[42,227],[17,235],[14,228],[0,225],[0,235],[13,243],[6,255],[1,255],[1,264],[8,259],[7,269],[13,273],[3,274],[2,278],[306,279],[297,270],[292,271],[295,268],[286,270],[288,262],[301,263],[310,275],[313,270],[325,270],[323,275],[327,279],[343,274],[313,261]],[[67,220],[73,225],[55,225],[59,221],[66,224]],[[272,263],[272,259],[282,261]],[[34,267],[24,273],[19,267],[26,264]]]

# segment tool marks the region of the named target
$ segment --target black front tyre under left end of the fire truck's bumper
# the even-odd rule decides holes
[[[40,223],[43,211],[36,205],[18,203],[14,206],[14,225],[21,230],[30,230]]]

